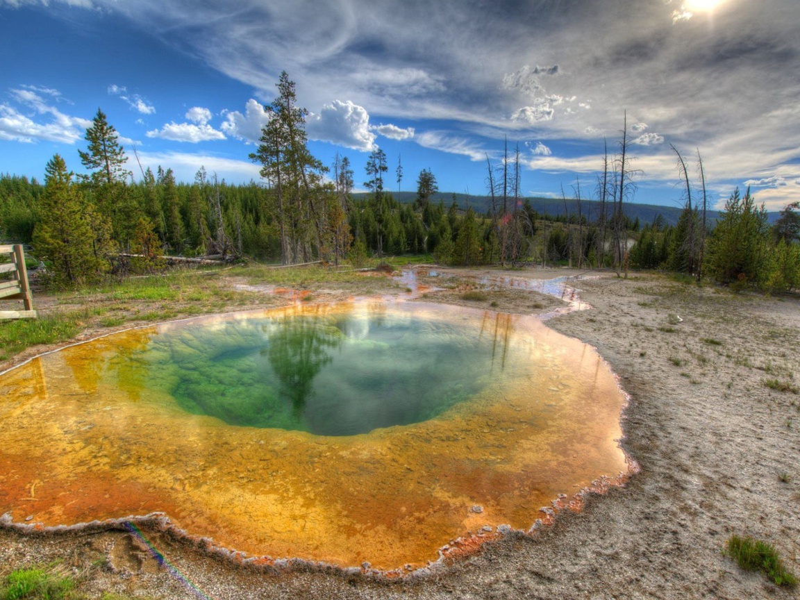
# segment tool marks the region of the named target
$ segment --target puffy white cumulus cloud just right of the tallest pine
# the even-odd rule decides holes
[[[363,106],[350,100],[334,100],[322,106],[319,114],[309,116],[306,132],[311,139],[340,144],[362,152],[370,152],[375,147],[370,115]]]

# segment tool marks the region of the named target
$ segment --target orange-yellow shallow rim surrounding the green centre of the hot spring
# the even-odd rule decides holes
[[[137,358],[187,323],[309,314],[458,321],[490,343],[491,376],[425,422],[334,437],[190,414]],[[424,566],[455,538],[527,530],[559,494],[628,473],[625,399],[594,350],[520,315],[350,302],[130,330],[0,376],[0,514],[58,526],[164,512],[250,556]]]

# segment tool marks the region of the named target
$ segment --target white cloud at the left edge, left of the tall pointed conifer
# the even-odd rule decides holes
[[[23,86],[23,88],[10,90],[12,98],[34,109],[39,115],[49,115],[50,122],[35,122],[33,118],[22,114],[13,106],[0,104],[0,139],[25,143],[44,140],[73,144],[83,138],[86,128],[91,126],[91,121],[62,113],[34,91],[38,90],[52,98],[58,98],[61,95],[58,90],[35,86]]]

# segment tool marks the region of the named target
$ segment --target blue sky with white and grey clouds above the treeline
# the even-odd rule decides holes
[[[311,152],[350,158],[357,188],[379,146],[388,190],[429,169],[486,194],[507,143],[522,194],[592,197],[626,123],[634,202],[686,201],[672,145],[714,206],[750,186],[780,210],[800,201],[798,23],[798,0],[0,0],[0,173],[41,181],[57,153],[83,172],[99,108],[134,178],[259,181],[286,70]]]

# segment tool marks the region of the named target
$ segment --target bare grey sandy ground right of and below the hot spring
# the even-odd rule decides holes
[[[447,271],[416,282],[439,290],[398,293],[506,312],[563,306],[531,291],[495,290],[486,274],[496,273]],[[575,285],[593,310],[548,325],[595,346],[619,374],[631,397],[622,446],[641,472],[534,537],[513,535],[432,575],[382,582],[336,570],[234,566],[156,530],[144,532],[169,566],[126,531],[28,536],[0,529],[0,574],[60,558],[98,596],[220,600],[798,598],[798,590],[744,573],[721,552],[730,534],[752,534],[773,542],[800,571],[800,395],[764,385],[800,386],[798,298],[730,294],[655,275],[602,274]],[[486,298],[462,298],[470,289],[486,290]]]

